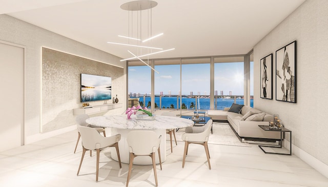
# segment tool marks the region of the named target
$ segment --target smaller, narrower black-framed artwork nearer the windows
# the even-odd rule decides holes
[[[272,53],[261,62],[261,98],[272,99]]]

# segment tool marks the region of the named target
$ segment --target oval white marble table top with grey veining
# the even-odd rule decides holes
[[[131,119],[128,119],[127,115],[105,115],[88,118],[86,122],[99,127],[139,130],[177,129],[194,125],[194,121],[180,117],[156,115],[154,118],[154,120],[136,119],[136,116],[132,115]]]

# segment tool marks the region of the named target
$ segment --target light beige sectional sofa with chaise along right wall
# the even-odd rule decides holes
[[[260,110],[243,106],[240,114],[224,110],[209,110],[208,116],[220,121],[228,121],[238,136],[245,140],[280,140],[280,132],[264,131],[259,125],[269,125],[273,121],[273,115],[263,113]],[[256,114],[253,114],[256,113]],[[253,114],[253,115],[251,115]]]

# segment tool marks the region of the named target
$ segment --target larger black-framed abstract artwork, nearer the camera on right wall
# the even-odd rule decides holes
[[[296,40],[276,51],[276,100],[296,103]]]

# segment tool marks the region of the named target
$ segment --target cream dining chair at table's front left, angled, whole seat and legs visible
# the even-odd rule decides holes
[[[81,134],[83,151],[82,151],[80,165],[78,167],[76,175],[78,175],[80,172],[84,155],[88,150],[90,151],[95,150],[97,152],[96,181],[98,181],[98,174],[99,174],[100,151],[109,147],[114,147],[116,149],[116,153],[118,157],[119,168],[122,168],[121,160],[119,156],[119,150],[118,150],[118,141],[121,139],[120,134],[116,134],[110,137],[104,137],[101,136],[96,129],[90,127],[84,127],[84,126],[78,126],[78,131]]]

